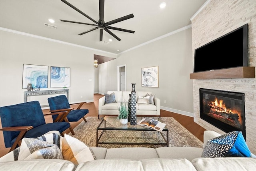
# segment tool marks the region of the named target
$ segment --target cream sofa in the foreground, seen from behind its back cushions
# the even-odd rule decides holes
[[[204,132],[208,139],[218,137],[214,131]],[[96,160],[80,163],[77,167],[67,160],[34,159],[0,163],[1,171],[255,171],[256,159],[251,157],[202,158],[197,147],[91,147]]]

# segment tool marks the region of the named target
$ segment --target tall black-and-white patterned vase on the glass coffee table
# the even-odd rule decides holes
[[[137,116],[136,116],[136,102],[137,102],[137,95],[135,91],[135,84],[132,84],[132,91],[131,91],[131,98],[130,98],[130,124],[137,125]]]

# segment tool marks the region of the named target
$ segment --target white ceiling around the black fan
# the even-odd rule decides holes
[[[98,0],[67,1],[98,22]],[[161,2],[166,2],[166,8],[159,8]],[[110,25],[134,30],[134,34],[111,30],[121,39],[118,41],[103,32],[103,41],[113,40],[110,44],[99,41],[100,29],[78,35],[95,26],[61,22],[60,19],[94,24],[60,0],[0,0],[0,27],[118,54],[190,25],[190,18],[205,2],[206,0],[105,0],[105,22],[134,14],[134,18]],[[48,18],[54,19],[55,23],[51,24]],[[44,23],[57,28],[46,27]]]

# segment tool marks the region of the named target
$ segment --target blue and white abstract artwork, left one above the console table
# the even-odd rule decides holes
[[[26,89],[28,84],[47,88],[48,66],[23,64],[22,89]]]

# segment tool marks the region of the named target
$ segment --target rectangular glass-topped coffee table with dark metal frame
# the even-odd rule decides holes
[[[137,117],[137,123],[144,117]],[[161,121],[159,117],[150,117],[153,119],[157,119]],[[107,122],[107,124],[106,124]],[[161,121],[162,122],[162,121]],[[108,126],[111,125],[111,126]],[[124,125],[120,124],[120,121],[116,119],[114,116],[105,116],[104,119],[100,122],[100,124],[97,127],[96,132],[96,147],[98,147],[99,144],[120,144],[120,145],[162,145],[162,146],[169,146],[169,130],[168,128],[164,127],[162,132],[166,132],[166,137],[162,134],[162,132],[157,131],[161,134],[164,143],[160,142],[152,142],[152,143],[137,143],[137,142],[106,142],[106,141],[100,141],[100,138],[105,133],[105,131],[156,131],[154,129],[150,129],[141,125],[130,125],[130,122],[127,123],[125,127]],[[102,133],[99,134],[99,130],[103,130]]]

